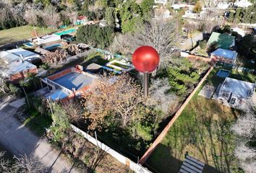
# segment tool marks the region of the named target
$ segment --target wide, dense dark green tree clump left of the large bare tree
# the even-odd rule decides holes
[[[111,27],[85,25],[77,30],[77,42],[106,48],[112,43],[114,30]]]

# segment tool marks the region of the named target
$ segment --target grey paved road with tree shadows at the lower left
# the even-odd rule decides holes
[[[64,173],[78,172],[73,164],[60,155],[46,139],[35,136],[19,120],[14,117],[16,108],[8,103],[0,103],[0,143],[14,155],[38,156],[40,161],[49,168],[49,172]]]

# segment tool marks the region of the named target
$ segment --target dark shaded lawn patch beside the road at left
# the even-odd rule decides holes
[[[25,126],[30,128],[30,130],[32,130],[36,135],[43,136],[46,132],[45,128],[49,128],[51,126],[51,117],[40,115],[40,113],[35,110],[31,110],[28,114],[30,117],[24,121]]]

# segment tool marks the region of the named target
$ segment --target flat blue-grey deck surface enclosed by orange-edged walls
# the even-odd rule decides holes
[[[82,89],[84,86],[92,84],[94,80],[95,77],[90,76],[89,74],[80,74],[72,71],[69,74],[54,79],[53,81],[67,89],[72,90],[74,88],[78,90]]]

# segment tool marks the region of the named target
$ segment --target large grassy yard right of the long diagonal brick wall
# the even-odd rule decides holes
[[[236,172],[230,126],[237,115],[214,99],[195,95],[146,164],[155,172],[179,172],[188,152],[207,164],[204,172]]]

